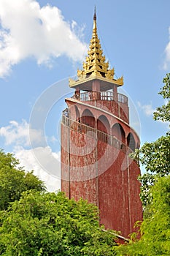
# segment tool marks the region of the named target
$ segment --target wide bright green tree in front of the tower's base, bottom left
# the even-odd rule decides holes
[[[98,225],[98,208],[62,192],[23,192],[1,211],[0,255],[115,255],[114,236]]]

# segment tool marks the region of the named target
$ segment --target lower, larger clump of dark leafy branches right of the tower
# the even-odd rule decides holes
[[[144,165],[146,173],[139,177],[141,182],[141,200],[143,206],[147,206],[152,200],[150,187],[155,184],[158,177],[169,175],[170,172],[170,136],[162,136],[152,143],[144,143],[142,148],[136,151],[141,165]]]

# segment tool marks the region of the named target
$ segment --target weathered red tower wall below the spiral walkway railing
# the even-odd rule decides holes
[[[142,220],[139,173],[125,152],[61,124],[61,190],[95,203],[101,224],[126,238]]]

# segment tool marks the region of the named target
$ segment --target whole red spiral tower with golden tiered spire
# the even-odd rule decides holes
[[[142,220],[140,174],[129,154],[139,148],[139,137],[129,124],[128,97],[117,92],[123,77],[101,49],[93,16],[93,34],[83,69],[69,80],[74,95],[66,98],[61,121],[61,190],[99,208],[100,223],[125,238]]]

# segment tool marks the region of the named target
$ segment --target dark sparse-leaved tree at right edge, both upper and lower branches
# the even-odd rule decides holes
[[[157,108],[153,118],[155,120],[170,121],[170,73],[163,78],[165,85],[159,92],[165,105]],[[136,150],[132,157],[137,159],[141,165],[144,165],[146,173],[139,177],[141,181],[141,199],[144,208],[150,204],[152,195],[150,187],[155,184],[158,177],[167,176],[170,172],[170,134],[158,138],[155,142],[144,143],[142,148]]]

